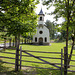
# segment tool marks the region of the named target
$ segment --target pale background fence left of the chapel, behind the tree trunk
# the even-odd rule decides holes
[[[20,39],[20,44],[31,44],[32,43],[32,40],[31,39],[27,39],[27,38],[23,38],[23,39]],[[0,48],[7,48],[7,47],[15,47],[15,39],[4,39],[3,42],[0,44]]]

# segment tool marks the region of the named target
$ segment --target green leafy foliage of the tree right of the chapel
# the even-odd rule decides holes
[[[54,6],[55,10],[51,13],[55,15],[56,21],[62,17],[65,21],[61,24],[61,37],[66,34],[66,48],[68,49],[68,39],[75,32],[75,0],[44,0],[44,5]],[[59,27],[59,25],[57,25]],[[70,32],[70,33],[69,33]],[[63,38],[61,38],[63,39]]]

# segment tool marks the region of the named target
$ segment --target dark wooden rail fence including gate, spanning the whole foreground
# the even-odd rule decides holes
[[[6,41],[5,41],[6,43]],[[14,42],[13,42],[14,43]],[[15,71],[18,71],[19,69],[21,69],[22,67],[31,67],[31,68],[40,68],[40,69],[52,69],[52,70],[61,70],[61,75],[62,75],[62,72],[64,70],[64,72],[69,71],[69,72],[75,72],[73,70],[68,70],[68,68],[64,68],[64,66],[66,66],[63,62],[65,62],[65,50],[63,51],[63,49],[61,49],[61,52],[43,52],[43,51],[30,51],[30,50],[22,50],[22,47],[20,47],[20,49],[17,48],[11,48],[11,46],[14,46],[14,44],[12,43],[12,41],[10,40],[9,42],[9,46],[6,47],[6,44],[4,45],[4,47],[1,47],[1,48],[6,48],[6,49],[12,49],[12,50],[15,50],[15,53],[13,52],[6,52],[6,51],[0,51],[0,53],[5,53],[5,54],[12,54],[12,55],[15,55],[15,57],[9,57],[9,56],[0,56],[0,58],[7,58],[7,59],[13,59],[15,62],[6,62],[6,61],[0,61],[2,63],[7,63],[7,64],[13,64],[15,65]],[[21,44],[23,43],[26,43],[26,41],[22,40],[21,41]],[[28,43],[28,42],[27,42]],[[12,44],[12,45],[11,45]],[[33,55],[32,53],[30,52],[35,52],[35,53],[48,53],[48,54],[60,54],[61,57],[60,58],[57,58],[57,57],[45,57],[45,56],[35,56]],[[23,53],[25,53],[26,55],[23,55]],[[68,54],[69,55],[69,54]],[[64,56],[64,58],[63,58]],[[74,54],[72,56],[75,56]],[[27,61],[27,60],[22,60],[22,57],[33,57],[33,58],[36,58],[42,62],[36,62],[36,61]],[[46,60],[44,60],[43,58],[46,58],[46,59],[55,59],[55,60],[61,60],[60,63],[52,63],[52,62],[48,62]],[[68,60],[68,59],[67,59]],[[29,62],[29,63],[38,63],[38,64],[49,64],[53,67],[55,67],[56,69],[54,68],[45,68],[45,67],[33,67],[33,66],[26,66],[26,65],[23,65],[22,62]],[[75,62],[75,60],[71,60],[71,62]],[[58,66],[60,65],[60,66]],[[75,67],[75,65],[69,65],[71,67]],[[65,75],[65,74],[64,74]]]

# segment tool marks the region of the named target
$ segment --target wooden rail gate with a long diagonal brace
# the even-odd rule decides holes
[[[44,60],[44,59],[41,59],[41,58],[48,58],[48,59],[60,59],[61,60],[61,58],[55,58],[55,57],[44,57],[44,56],[34,56],[34,55],[32,55],[31,53],[29,53],[29,52],[36,52],[36,53],[53,53],[53,54],[61,54],[61,52],[43,52],[43,51],[29,51],[29,50],[22,50],[22,47],[20,48],[20,54],[19,54],[19,56],[20,56],[20,59],[18,60],[18,61],[20,61],[20,64],[18,65],[18,66],[20,66],[20,69],[21,69],[21,67],[32,67],[32,68],[42,68],[42,69],[52,69],[52,70],[62,70],[62,67],[59,67],[59,66],[57,66],[57,65],[61,65],[62,66],[62,64],[61,63],[50,63],[50,62],[48,62],[48,61],[46,61],[46,60]],[[22,55],[22,52],[23,53],[25,53],[25,54],[27,54],[27,55]],[[63,54],[63,53],[62,53]],[[21,58],[22,58],[22,56],[24,56],[24,57],[34,57],[34,58],[36,58],[36,59],[38,59],[38,60],[41,60],[41,61],[43,61],[43,62],[36,62],[36,61],[27,61],[27,60],[22,60]],[[23,62],[31,62],[31,63],[39,63],[39,64],[49,64],[49,65],[52,65],[52,66],[54,66],[54,67],[57,67],[58,69],[53,69],[53,68],[44,68],[44,67],[33,67],[33,66],[26,66],[26,65],[22,65],[21,63],[22,63],[22,61]],[[61,75],[62,75],[62,71],[61,71]]]

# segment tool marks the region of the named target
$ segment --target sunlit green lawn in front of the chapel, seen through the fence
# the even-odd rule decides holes
[[[61,52],[61,48],[63,49],[63,47],[65,46],[65,43],[51,43],[51,46],[36,46],[36,45],[21,45],[23,50],[31,50],[31,51],[45,51],[45,52]],[[69,46],[69,52],[70,52],[70,46]],[[6,52],[14,52],[15,50],[6,50]],[[50,54],[50,53],[35,53],[35,52],[29,52],[35,56],[44,56],[44,57],[58,57],[61,58],[60,54]],[[25,53],[22,53],[23,55],[27,55]],[[75,51],[73,52],[73,54],[75,54]],[[0,53],[0,56],[9,56],[9,57],[13,57],[15,58],[14,54],[5,54],[5,53]],[[73,56],[72,59],[74,59],[75,57]],[[48,62],[51,63],[60,63],[60,59],[47,59],[47,58],[42,58]],[[5,59],[5,58],[0,58],[0,60],[2,61],[7,61],[7,62],[13,62],[15,63],[14,59]],[[36,62],[42,62],[38,59],[35,59],[33,57],[22,57],[22,60],[26,60],[26,61],[36,61]],[[45,68],[55,68],[51,65],[48,64],[35,64],[35,63],[29,63],[29,62],[22,62],[22,65],[26,65],[26,66],[37,66],[37,67],[45,67]],[[75,65],[75,62],[71,62],[70,65]],[[7,69],[7,67],[9,67]],[[60,65],[59,65],[60,66]],[[5,72],[5,71],[11,71],[14,69],[14,65],[11,64],[3,64],[1,63],[0,66],[0,72]],[[3,69],[3,67],[5,67]],[[25,69],[25,68],[24,68]],[[75,70],[75,67],[70,67],[69,69],[71,70]],[[26,72],[28,74],[26,75],[60,75],[60,71],[55,71],[55,70],[48,70],[48,69],[36,69],[37,74],[33,74],[33,70],[35,69],[31,69],[31,70],[26,70]],[[24,71],[25,72],[25,71]],[[29,74],[31,72],[31,74]],[[22,72],[20,71],[20,75]],[[7,73],[8,75],[10,75],[10,73]],[[17,75],[14,72],[11,75]],[[25,75],[25,74],[24,74]],[[68,75],[75,75],[75,73],[68,73]]]

